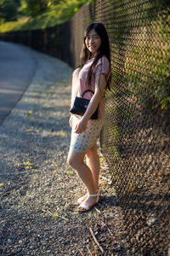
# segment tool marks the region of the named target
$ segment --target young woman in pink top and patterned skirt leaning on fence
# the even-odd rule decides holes
[[[90,102],[83,116],[71,114],[68,164],[77,171],[88,189],[88,193],[77,200],[78,211],[87,212],[100,200],[100,165],[96,141],[104,124],[104,93],[111,70],[109,39],[102,23],[88,26],[80,59],[81,65],[72,76],[71,107],[75,97],[81,96],[84,90],[93,90],[94,94],[89,91],[85,94],[84,97],[90,99]],[[97,108],[98,119],[90,119]]]

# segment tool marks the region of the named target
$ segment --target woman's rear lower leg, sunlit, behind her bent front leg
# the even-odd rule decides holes
[[[99,154],[97,150],[97,145],[95,144],[93,148],[90,148],[87,152],[87,166],[89,167],[92,175],[94,177],[95,189],[99,190]]]

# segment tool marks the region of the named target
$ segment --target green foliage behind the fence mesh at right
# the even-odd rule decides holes
[[[170,109],[170,15],[168,9],[162,11],[149,27],[145,35],[146,43],[132,49],[131,61],[125,63],[127,70],[127,94],[141,108]],[[156,40],[156,43],[152,40]],[[159,42],[159,43],[158,43]],[[152,47],[148,47],[152,45]],[[136,72],[144,68],[144,73]]]

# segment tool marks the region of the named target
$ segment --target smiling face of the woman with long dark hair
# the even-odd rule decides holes
[[[88,50],[91,52],[92,57],[94,57],[101,45],[101,38],[99,38],[98,33],[94,29],[90,30],[86,35],[85,44]]]

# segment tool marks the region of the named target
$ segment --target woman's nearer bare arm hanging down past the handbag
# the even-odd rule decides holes
[[[96,85],[94,96],[91,98],[86,112],[84,113],[82,119],[75,128],[76,133],[82,133],[83,131],[86,131],[88,120],[91,118],[96,108],[98,108],[99,102],[101,101],[101,98],[104,96],[106,82],[107,81],[105,79],[105,74],[103,73],[95,78]]]

